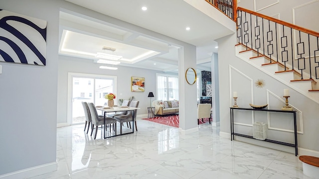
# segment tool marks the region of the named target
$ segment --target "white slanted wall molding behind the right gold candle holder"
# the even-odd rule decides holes
[[[280,97],[278,95],[276,95],[274,92],[270,91],[269,89],[267,89],[267,103],[269,104],[268,107],[271,109],[270,106],[270,95],[272,95],[273,97],[277,98],[278,100],[282,101],[283,106],[285,105],[286,101],[283,99],[283,97]],[[296,117],[297,117],[297,133],[303,134],[304,133],[304,127],[303,127],[303,112],[301,110],[299,110],[298,108],[296,108],[295,106],[289,104],[294,110],[296,110]],[[292,120],[294,120],[292,118]],[[279,131],[285,131],[285,132],[294,132],[294,130],[289,130],[289,129],[283,129],[283,128],[279,128],[279,127],[275,127],[271,125],[271,118],[270,118],[270,112],[268,112],[268,129],[272,129],[272,130],[279,130]]]

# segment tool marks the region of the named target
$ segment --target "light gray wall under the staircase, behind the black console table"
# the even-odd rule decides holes
[[[262,105],[269,103],[271,109],[280,109],[284,106],[284,89],[290,89],[290,105],[302,113],[302,125],[298,117],[298,147],[302,151],[313,150],[319,155],[319,138],[317,135],[319,126],[319,104],[312,99],[305,97],[298,91],[289,88],[281,82],[259,71],[245,61],[235,56],[236,35],[218,39],[218,63],[219,63],[219,87],[220,90],[220,132],[221,135],[230,134],[230,112],[229,107],[233,105],[232,92],[238,92],[237,104],[240,107],[250,107],[249,103]],[[230,75],[231,72],[231,75]],[[254,82],[263,79],[266,86],[262,89],[255,87]],[[226,83],[227,82],[227,83]],[[299,113],[297,113],[299,115]],[[258,113],[252,116],[251,112],[236,111],[235,118],[242,123],[255,121],[267,122],[266,113]],[[279,129],[293,129],[293,116],[279,113],[270,114],[271,126]],[[252,124],[252,123],[250,123]],[[252,135],[252,127],[235,125],[238,133]],[[315,135],[315,136],[314,136]],[[227,136],[227,135],[225,135]],[[292,132],[269,129],[267,136],[273,140],[294,143]],[[282,147],[283,148],[283,147]],[[291,148],[293,149],[293,148]],[[317,151],[317,152],[316,152]]]

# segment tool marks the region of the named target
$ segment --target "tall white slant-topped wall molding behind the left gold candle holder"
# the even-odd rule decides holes
[[[234,87],[234,85],[233,85],[234,84],[234,80],[232,79],[232,73],[237,73],[237,74],[240,75],[240,77],[242,77],[243,79],[247,79],[249,81],[250,87],[248,87],[248,88],[251,91],[251,101],[249,103],[253,103],[253,101],[254,101],[254,94],[253,94],[254,83],[253,83],[253,79],[251,79],[250,77],[245,75],[240,70],[238,70],[238,69],[234,68],[233,66],[229,65],[229,87],[230,87],[229,88],[230,89],[229,90],[229,96],[230,96],[229,100],[230,100],[231,106],[233,105],[233,102],[234,102],[234,98],[232,97],[233,96],[233,91],[237,91],[237,89],[238,89],[238,87]],[[240,88],[243,89],[243,86],[240,87]],[[239,99],[240,99],[240,93],[239,93]],[[237,104],[238,104],[238,102],[237,102]],[[251,111],[251,119],[252,119],[251,123],[234,122],[234,124],[244,125],[244,126],[253,126],[253,123],[254,123],[254,113],[253,113],[253,111]]]

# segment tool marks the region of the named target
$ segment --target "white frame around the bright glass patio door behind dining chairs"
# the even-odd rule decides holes
[[[110,75],[97,75],[97,74],[84,74],[84,73],[73,73],[68,72],[68,93],[67,93],[67,124],[72,125],[72,96],[73,96],[73,78],[93,78],[94,79],[94,86],[95,86],[95,79],[114,79],[114,93],[117,94],[117,76],[110,76]],[[94,87],[95,90],[95,87]],[[95,98],[95,92],[94,92]]]

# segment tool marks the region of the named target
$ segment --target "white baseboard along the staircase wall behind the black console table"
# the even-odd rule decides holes
[[[223,138],[230,139],[230,133],[219,132],[219,136],[223,137]],[[294,147],[284,146],[284,145],[280,145],[280,144],[274,144],[274,143],[270,143],[270,142],[265,142],[265,141],[261,141],[261,140],[255,140],[255,139],[250,139],[250,138],[240,137],[240,136],[235,136],[235,140],[295,154]],[[298,147],[298,156],[302,156],[302,155],[319,157],[319,151]]]

